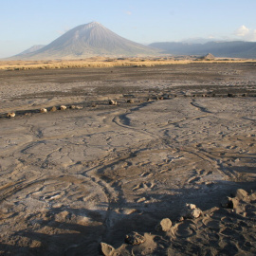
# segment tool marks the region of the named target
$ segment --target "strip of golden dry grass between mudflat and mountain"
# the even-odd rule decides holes
[[[256,60],[216,59],[214,61],[198,61],[190,59],[171,58],[125,58],[103,59],[91,58],[86,60],[62,60],[62,61],[2,61],[0,70],[29,70],[29,69],[54,69],[54,68],[87,68],[87,67],[114,67],[114,66],[155,66],[168,64],[216,64],[216,63],[247,63]]]

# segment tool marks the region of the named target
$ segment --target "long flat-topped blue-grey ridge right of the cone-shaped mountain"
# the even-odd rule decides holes
[[[244,41],[209,42],[206,44],[190,43],[154,43],[150,46],[161,49],[162,53],[173,55],[200,55],[209,52],[215,57],[256,59],[256,43]]]

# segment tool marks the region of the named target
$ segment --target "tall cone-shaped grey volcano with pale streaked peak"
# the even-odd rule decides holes
[[[133,57],[155,54],[155,48],[122,38],[100,23],[92,22],[70,29],[49,45],[36,51],[23,52],[10,59],[81,59],[94,56]]]

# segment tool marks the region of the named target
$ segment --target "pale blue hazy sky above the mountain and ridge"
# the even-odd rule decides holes
[[[100,22],[137,43],[256,41],[256,0],[0,0],[0,58]]]

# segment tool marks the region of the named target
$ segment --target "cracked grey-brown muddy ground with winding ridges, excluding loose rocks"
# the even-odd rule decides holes
[[[255,255],[255,69],[0,71],[0,253]],[[83,108],[39,111],[61,104]],[[186,203],[203,214],[177,221]]]

